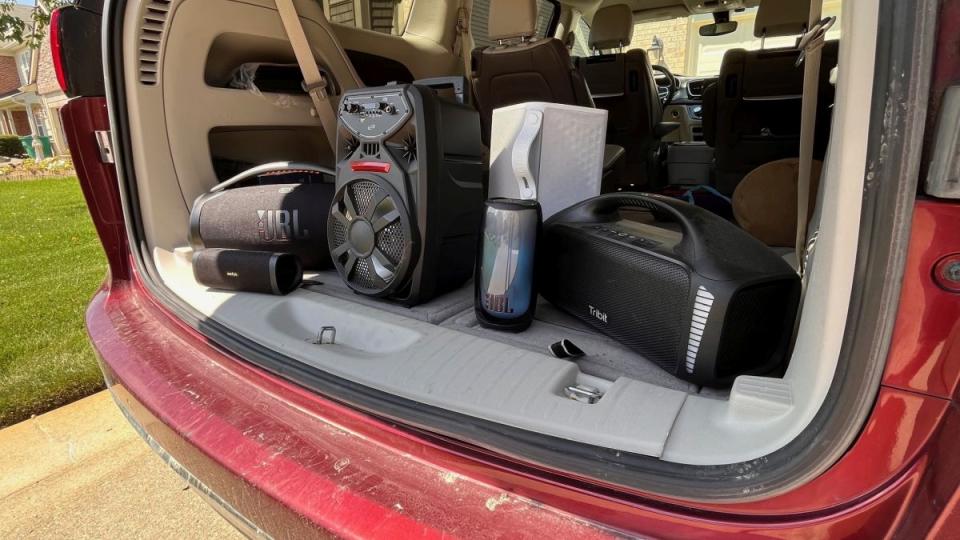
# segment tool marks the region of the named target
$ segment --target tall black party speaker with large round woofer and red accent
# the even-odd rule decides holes
[[[451,84],[462,100],[459,77],[343,96],[327,235],[334,266],[357,293],[415,305],[473,272],[484,197],[480,119],[437,95],[435,86]]]

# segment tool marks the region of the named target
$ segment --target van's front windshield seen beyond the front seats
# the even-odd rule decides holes
[[[823,2],[824,16],[832,15],[838,18],[837,23],[827,32],[827,39],[840,37],[840,8],[841,0]],[[652,64],[664,66],[676,75],[718,75],[723,55],[728,50],[761,48],[761,39],[753,35],[756,16],[756,8],[731,13],[730,19],[737,21],[737,30],[724,36],[713,37],[700,36],[700,27],[713,22],[713,15],[710,14],[638,22],[633,27],[630,46],[625,50],[644,49]],[[771,37],[763,40],[763,48],[792,47],[796,45],[796,41],[795,36]]]

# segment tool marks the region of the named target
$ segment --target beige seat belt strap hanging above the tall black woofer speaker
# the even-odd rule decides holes
[[[327,142],[330,143],[330,149],[336,155],[337,115],[334,111],[334,104],[330,101],[327,93],[327,78],[320,71],[320,66],[313,56],[313,48],[310,47],[310,42],[307,40],[307,34],[303,30],[303,23],[300,22],[300,15],[297,14],[297,8],[294,7],[293,0],[276,0],[276,2],[283,28],[287,32],[290,46],[293,47],[293,54],[297,57],[297,63],[300,64],[300,71],[303,74],[303,89],[306,90],[310,100],[313,101],[313,114],[320,118],[320,124],[327,136]]]

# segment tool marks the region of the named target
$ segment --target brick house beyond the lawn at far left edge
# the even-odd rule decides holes
[[[33,24],[32,10],[12,6],[12,14],[28,25]],[[40,141],[47,137],[50,152],[40,143],[45,157],[66,154],[59,114],[66,100],[53,68],[49,33],[38,50],[14,41],[0,42],[0,134],[31,135]]]

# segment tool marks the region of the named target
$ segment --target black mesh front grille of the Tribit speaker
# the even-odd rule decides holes
[[[690,313],[678,308],[689,303],[690,293],[682,266],[569,226],[553,228],[544,248],[554,261],[541,266],[544,297],[676,373]]]

